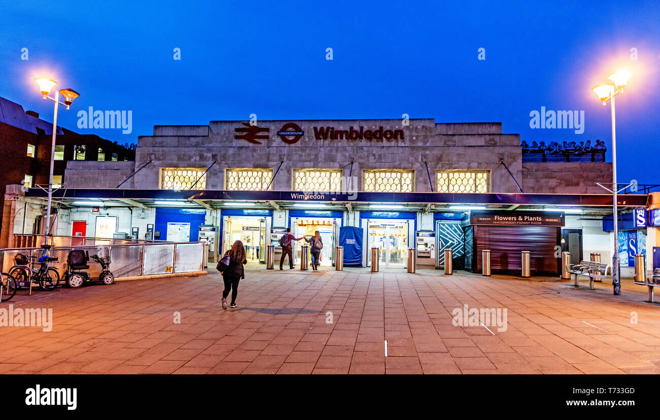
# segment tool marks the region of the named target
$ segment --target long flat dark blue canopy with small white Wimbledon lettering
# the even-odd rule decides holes
[[[26,197],[46,198],[40,188]],[[645,207],[647,195],[618,195],[620,211]],[[465,210],[546,210],[566,214],[609,214],[612,195],[513,193],[308,193],[304,191],[228,191],[162,189],[72,189],[53,191],[63,207],[187,207],[275,210],[348,210],[396,212],[461,212]]]

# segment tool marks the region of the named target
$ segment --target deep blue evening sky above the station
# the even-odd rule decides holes
[[[0,0],[0,96],[50,121],[52,105],[32,81],[49,75],[81,93],[59,125],[122,144],[153,125],[251,113],[407,113],[501,121],[530,144],[600,138],[611,149],[610,108],[591,87],[628,69],[634,75],[616,100],[618,181],[660,183],[657,1],[142,3]],[[89,106],[133,111],[132,133],[78,129],[76,113]],[[542,106],[585,111],[584,133],[531,129],[529,113]]]

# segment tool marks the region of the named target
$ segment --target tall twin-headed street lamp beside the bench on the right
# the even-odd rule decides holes
[[[623,94],[623,89],[628,83],[628,78],[632,76],[627,71],[621,71],[609,76],[611,83],[599,84],[591,89],[598,98],[603,102],[603,106],[607,101],[612,105],[612,201],[614,202],[614,209],[612,210],[614,217],[612,222],[614,224],[614,256],[612,257],[612,285],[614,285],[614,295],[621,294],[621,279],[619,276],[619,260],[618,260],[618,208],[616,205],[616,194],[618,193],[618,185],[616,183],[616,117],[614,115],[614,96]]]

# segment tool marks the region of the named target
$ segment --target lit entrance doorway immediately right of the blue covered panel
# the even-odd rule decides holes
[[[369,222],[367,227],[367,264],[371,265],[371,248],[379,248],[380,264],[403,267],[408,249],[409,222]]]

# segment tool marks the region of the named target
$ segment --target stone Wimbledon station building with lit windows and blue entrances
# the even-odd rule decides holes
[[[298,237],[319,230],[325,265],[333,264],[344,226],[361,229],[362,266],[378,247],[381,266],[403,267],[413,247],[417,264],[440,268],[451,248],[454,268],[479,272],[480,250],[491,249],[493,272],[519,272],[527,250],[533,272],[557,274],[558,249],[574,262],[590,253],[611,260],[614,243],[603,227],[612,196],[597,185],[611,184],[611,163],[530,162],[520,136],[502,133],[501,123],[155,126],[138,138],[135,162],[72,161],[65,179],[56,193],[58,235],[203,237],[212,242],[211,260],[240,239],[251,262],[264,262],[265,247],[277,245],[286,227]],[[15,194],[43,197],[35,189]],[[626,213],[648,201],[647,194],[625,194],[618,205]],[[16,220],[13,233],[20,225]],[[646,244],[660,245],[655,233]],[[295,251],[300,258],[300,247]]]

